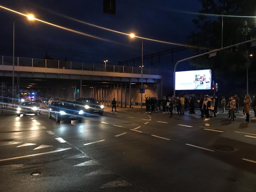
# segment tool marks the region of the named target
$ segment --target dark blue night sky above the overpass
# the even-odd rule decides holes
[[[108,64],[141,56],[141,40],[77,23],[47,10],[125,33],[134,32],[142,37],[185,44],[187,35],[196,30],[192,24],[196,16],[167,11],[167,8],[194,12],[201,8],[197,0],[116,0],[116,15],[108,15],[103,13],[103,0],[1,0],[0,5],[116,42],[93,39],[23,19],[15,24],[15,56],[44,58],[47,52],[54,59],[67,57],[68,61],[91,63],[103,63],[108,59]],[[0,55],[12,56],[12,25],[19,18],[22,16],[0,9]],[[144,55],[172,47],[175,46],[145,40]],[[190,51],[179,52],[174,55],[174,61],[192,54]],[[153,66],[145,61],[146,67],[168,68],[170,64],[173,65],[170,55],[161,57],[160,63],[158,58],[154,59]]]

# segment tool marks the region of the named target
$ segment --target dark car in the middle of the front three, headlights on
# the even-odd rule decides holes
[[[56,122],[83,120],[84,111],[72,101],[52,101],[49,105],[48,117],[54,118]]]

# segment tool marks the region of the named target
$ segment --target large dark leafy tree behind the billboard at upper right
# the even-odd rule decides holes
[[[188,36],[189,44],[198,47],[208,47],[205,50],[193,49],[196,54],[206,52],[221,47],[221,25],[222,12],[224,15],[255,15],[255,0],[200,0],[202,9],[199,11],[197,19],[192,20],[196,25],[197,31]],[[216,15],[211,17],[206,14]],[[223,47],[249,40],[256,35],[256,19],[248,17],[224,17],[223,28]],[[200,68],[211,68],[217,74],[216,81],[222,81],[222,84],[228,86],[231,83],[244,85],[241,81],[245,79],[246,68],[254,65],[253,57],[247,58],[249,54],[256,56],[256,52],[249,44],[234,47],[229,50],[218,52],[216,57],[199,57],[192,59],[190,64]],[[255,69],[255,65],[253,66]],[[250,70],[249,77],[255,81],[255,70]],[[225,78],[226,77],[226,78]],[[233,77],[233,78],[232,78]],[[236,77],[236,78],[234,78]]]

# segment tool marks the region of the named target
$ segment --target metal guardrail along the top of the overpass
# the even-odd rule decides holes
[[[2,65],[12,66],[13,57],[0,56]],[[120,72],[141,74],[140,67],[131,66],[119,66],[119,65],[104,65],[104,64],[92,64],[85,62],[73,62],[73,61],[59,61],[50,59],[34,59],[25,57],[14,57],[15,66],[23,67],[42,67],[42,68],[54,68],[54,69],[72,69],[72,70],[84,70],[84,71],[101,71],[101,72]],[[157,68],[143,67],[143,74],[149,75],[162,75],[163,71]]]

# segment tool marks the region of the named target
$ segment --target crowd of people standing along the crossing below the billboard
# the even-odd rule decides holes
[[[230,96],[228,100],[226,100],[224,96],[222,96],[221,100],[219,100],[217,96],[201,94],[200,99],[196,101],[193,96],[189,95],[184,95],[181,97],[164,96],[162,99],[157,99],[156,97],[147,97],[145,95],[146,113],[163,111],[165,114],[170,114],[170,117],[173,117],[173,113],[184,115],[186,109],[189,109],[190,115],[194,115],[196,102],[199,103],[201,118],[205,121],[209,121],[210,117],[215,118],[217,117],[217,113],[221,113],[219,111],[219,105],[222,107],[222,113],[225,112],[225,108],[228,109],[228,119],[230,121],[234,121],[234,119],[237,118],[235,113],[239,113],[240,99],[237,94]],[[246,94],[243,100],[243,113],[244,116],[246,115],[246,123],[249,122],[251,108],[254,111],[254,117],[252,119],[256,120],[255,95],[253,96],[253,99],[251,99],[251,97]]]

